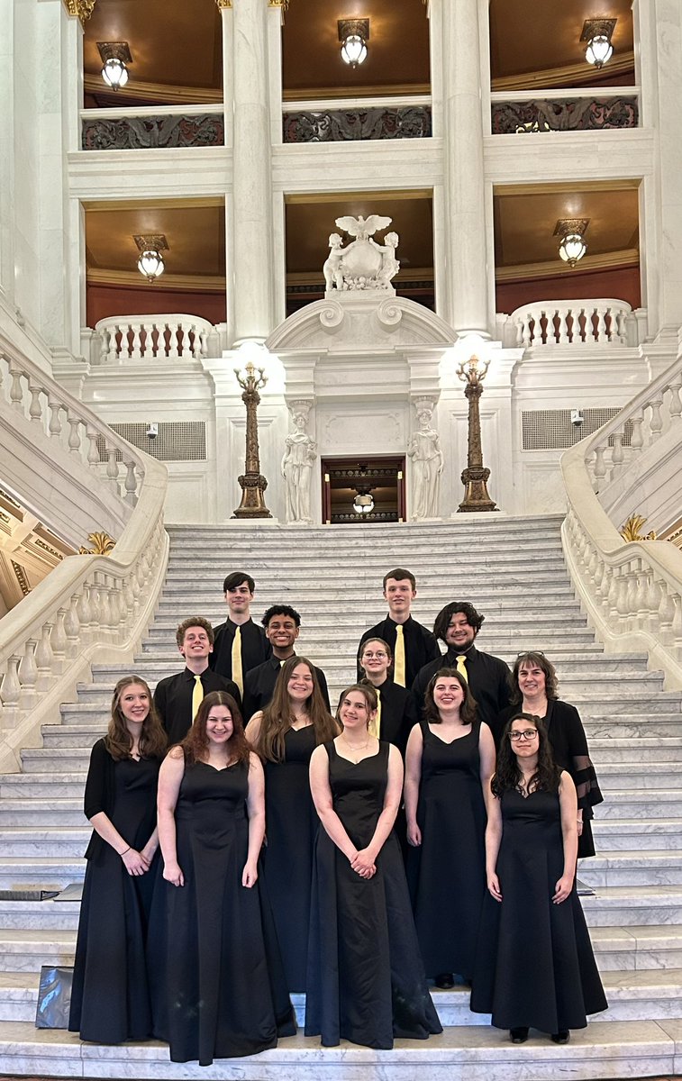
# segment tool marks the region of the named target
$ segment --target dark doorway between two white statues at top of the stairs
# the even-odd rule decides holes
[[[405,520],[404,455],[324,457],[321,466],[325,525]]]

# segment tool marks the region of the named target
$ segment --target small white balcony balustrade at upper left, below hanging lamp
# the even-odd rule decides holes
[[[99,364],[161,358],[198,360],[208,356],[212,331],[212,323],[198,316],[109,316],[95,324],[99,350],[91,356]]]

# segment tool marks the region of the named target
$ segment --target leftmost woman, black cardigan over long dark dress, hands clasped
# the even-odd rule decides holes
[[[156,858],[157,780],[165,733],[149,688],[119,680],[104,739],[92,749],[84,812],[94,832],[85,852],[69,1030],[122,1043],[151,1036],[145,966]]]

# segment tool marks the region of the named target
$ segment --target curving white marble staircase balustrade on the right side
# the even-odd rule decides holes
[[[606,507],[642,505],[645,468],[656,476],[682,436],[682,356],[612,421],[561,459],[569,513],[562,537],[576,589],[598,632],[616,650],[645,648],[667,685],[682,688],[682,551],[664,540],[625,543]],[[626,426],[629,446],[624,446]],[[644,459],[648,459],[645,467]],[[682,478],[677,470],[682,495]]]

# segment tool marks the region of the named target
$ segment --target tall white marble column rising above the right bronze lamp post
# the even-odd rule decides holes
[[[431,0],[441,27],[438,84],[444,141],[445,291],[442,315],[459,335],[490,337],[486,212],[481,111],[479,0]],[[491,222],[492,228],[492,222]]]

